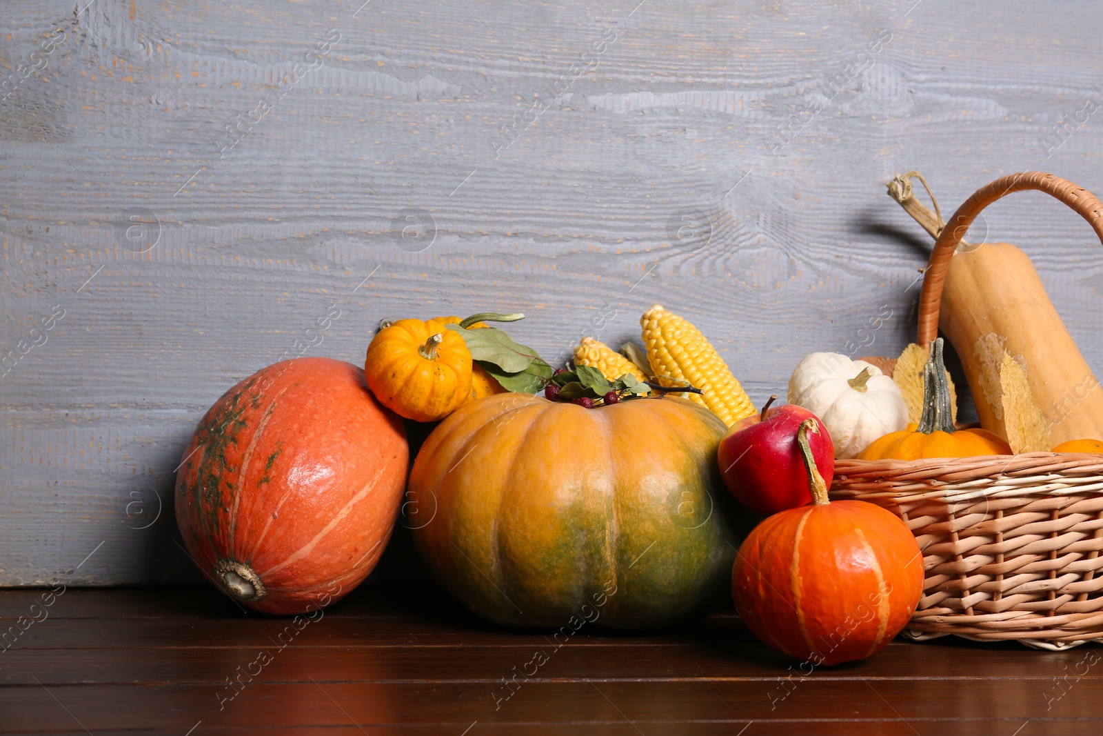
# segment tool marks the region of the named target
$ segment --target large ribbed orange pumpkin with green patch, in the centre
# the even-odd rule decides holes
[[[725,587],[737,538],[716,448],[683,398],[585,408],[496,394],[438,426],[410,473],[436,577],[497,623],[668,625]]]

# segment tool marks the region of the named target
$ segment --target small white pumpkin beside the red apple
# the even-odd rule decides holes
[[[908,426],[908,405],[896,382],[866,361],[812,353],[789,380],[789,403],[824,423],[836,458],[853,458],[869,442]]]

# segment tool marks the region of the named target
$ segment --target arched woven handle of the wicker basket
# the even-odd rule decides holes
[[[927,263],[927,271],[923,275],[923,290],[919,297],[919,339],[917,342],[923,350],[927,350],[931,340],[934,340],[939,334],[939,307],[942,302],[942,287],[946,280],[946,271],[950,270],[950,259],[953,257],[954,250],[957,249],[957,244],[982,210],[1011,192],[1021,192],[1027,189],[1046,192],[1068,204],[1088,221],[1100,242],[1103,242],[1103,202],[1095,199],[1095,195],[1086,189],[1077,186],[1068,179],[1061,179],[1042,171],[1022,171],[1000,177],[996,181],[985,184],[957,207],[957,212],[942,228],[939,239],[934,243],[934,249],[931,250],[931,259]]]

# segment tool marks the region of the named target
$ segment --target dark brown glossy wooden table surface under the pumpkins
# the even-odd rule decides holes
[[[660,633],[583,626],[556,648],[424,582],[361,587],[301,629],[208,588],[43,594],[0,591],[0,733],[1103,732],[1094,648],[898,640],[802,674],[730,609]]]

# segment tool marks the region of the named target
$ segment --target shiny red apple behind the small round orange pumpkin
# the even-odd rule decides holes
[[[835,472],[835,446],[820,417],[795,404],[771,408],[740,419],[720,440],[718,450],[724,483],[740,503],[764,516],[803,506],[812,501],[808,476],[796,445],[801,423],[812,418],[818,434],[808,433],[808,446],[820,474],[831,483]]]

